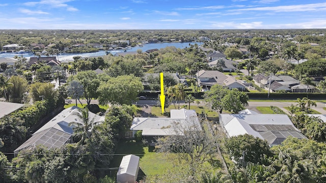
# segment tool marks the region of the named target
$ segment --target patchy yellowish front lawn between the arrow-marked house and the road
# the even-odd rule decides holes
[[[178,108],[178,105],[176,104],[176,107]],[[182,108],[183,106],[180,105],[180,107]],[[167,112],[170,112],[171,109],[175,109],[174,105],[172,104],[170,107],[168,107],[166,109]],[[188,107],[186,108],[188,109]],[[197,106],[196,104],[191,104],[190,105],[190,109],[195,110],[197,113],[202,113],[202,111],[204,111],[208,117],[218,117],[219,113],[213,110],[210,110],[208,107],[206,106]],[[163,116],[162,115],[162,110],[160,107],[152,107],[152,114],[156,115],[156,116]]]

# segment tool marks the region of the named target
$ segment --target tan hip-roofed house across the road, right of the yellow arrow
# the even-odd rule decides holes
[[[209,90],[211,86],[219,84],[223,87],[233,89],[237,88],[240,91],[246,90],[246,86],[240,81],[237,81],[232,76],[225,75],[220,71],[205,71],[201,70],[196,73],[198,85],[202,87],[202,90]]]

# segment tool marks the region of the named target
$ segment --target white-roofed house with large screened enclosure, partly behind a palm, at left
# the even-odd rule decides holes
[[[69,124],[71,122],[83,124],[82,120],[76,116],[77,109],[78,107],[73,106],[61,111],[14,150],[14,153],[16,154],[22,149],[33,149],[37,145],[44,145],[47,148],[60,148],[69,142],[74,128],[74,126],[69,127]],[[101,116],[89,112],[89,119],[93,118],[95,124],[100,123],[102,119]]]

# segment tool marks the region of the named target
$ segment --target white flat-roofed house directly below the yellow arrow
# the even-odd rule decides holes
[[[142,130],[143,136],[166,136],[166,135],[182,135],[180,129],[201,130],[201,126],[194,110],[187,109],[171,109],[170,118],[158,117],[135,117],[133,118],[130,130],[133,135]],[[174,129],[175,125],[180,128]],[[189,129],[189,127],[193,127]]]

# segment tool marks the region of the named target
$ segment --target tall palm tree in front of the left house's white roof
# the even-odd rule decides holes
[[[78,108],[74,112],[74,115],[79,119],[78,121],[72,121],[69,127],[73,126],[73,139],[75,142],[85,144],[87,139],[90,139],[92,135],[97,135],[101,130],[101,126],[94,123],[94,119],[90,119],[88,108]]]

